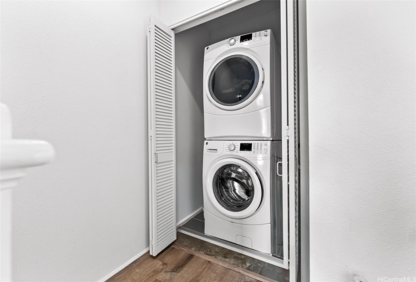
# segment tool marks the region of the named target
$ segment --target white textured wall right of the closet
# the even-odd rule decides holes
[[[415,5],[307,2],[311,281],[416,276]]]

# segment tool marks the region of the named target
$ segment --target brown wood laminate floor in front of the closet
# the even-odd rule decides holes
[[[156,257],[150,256],[149,253],[142,255],[107,280],[107,282],[115,281],[257,282],[259,280],[171,245]]]

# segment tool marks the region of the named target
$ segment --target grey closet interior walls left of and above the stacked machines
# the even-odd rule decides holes
[[[272,30],[280,49],[279,1],[259,1],[175,34],[178,223],[203,206],[204,49],[233,36],[266,29]]]

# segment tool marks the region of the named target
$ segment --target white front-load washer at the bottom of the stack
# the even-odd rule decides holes
[[[280,141],[206,140],[205,234],[281,256],[282,186],[278,162]]]

